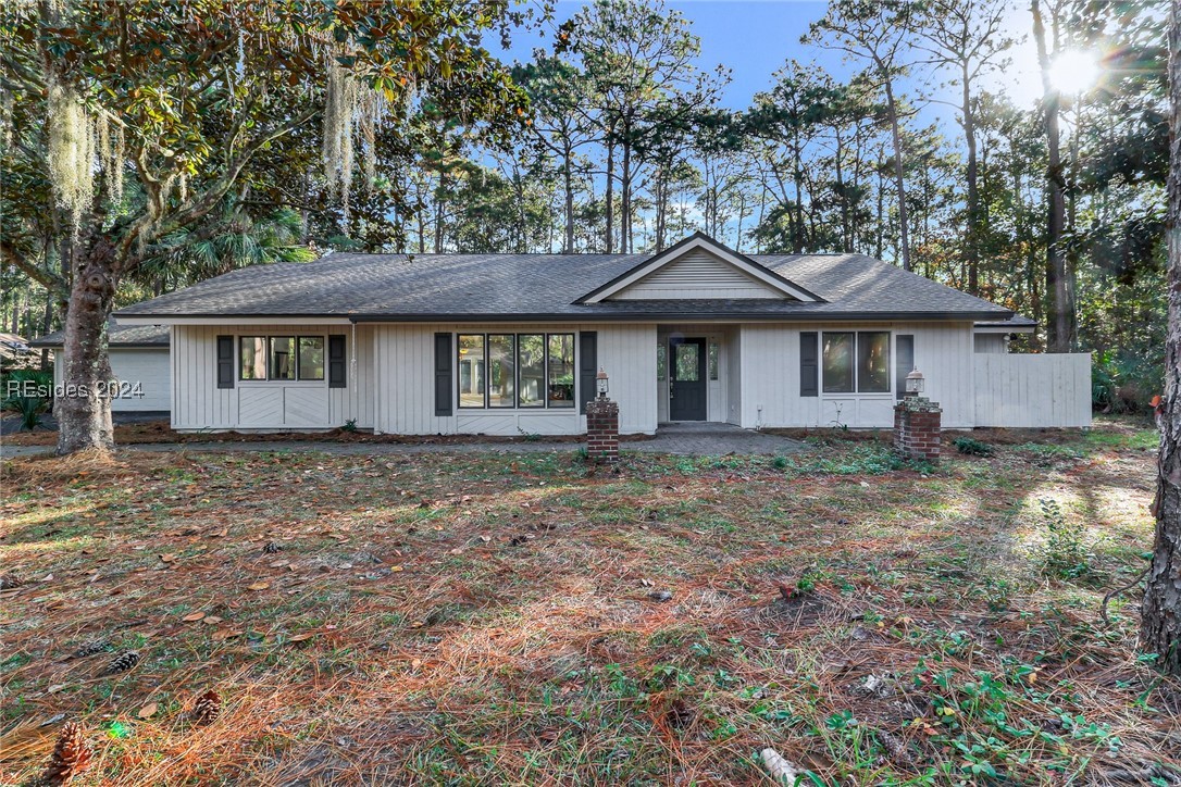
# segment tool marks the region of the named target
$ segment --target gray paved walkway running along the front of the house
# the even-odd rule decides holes
[[[576,451],[581,442],[329,442],[329,441],[208,441],[208,442],[145,442],[128,445],[129,451],[185,451],[188,453],[242,453],[289,451],[299,453],[328,453],[335,455],[416,454],[416,453],[565,453]],[[730,424],[661,424],[651,440],[625,441],[627,452],[665,453],[690,457],[725,454],[785,454],[805,451],[807,446],[774,434],[742,429]],[[51,453],[53,446],[0,445],[0,457],[31,457]]]

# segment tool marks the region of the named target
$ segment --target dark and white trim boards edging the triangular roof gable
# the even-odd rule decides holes
[[[696,258],[692,256],[693,253],[704,253],[706,255],[705,257],[706,261],[709,261],[710,258],[716,260],[717,262],[715,263],[715,265],[730,265],[732,273],[730,276],[725,277],[725,281],[722,283],[720,289],[723,290],[736,289],[743,293],[750,293],[750,291],[765,293],[763,295],[756,294],[756,295],[744,295],[737,297],[755,297],[755,299],[779,297],[779,299],[791,299],[801,301],[803,303],[823,302],[823,299],[816,295],[815,293],[809,293],[804,288],[800,287],[798,284],[795,284],[794,282],[788,281],[787,278],[775,273],[774,270],[765,268],[759,263],[755,262],[753,260],[751,260],[750,257],[718,243],[713,238],[702,232],[696,232],[685,238],[684,241],[681,241],[680,243],[677,243],[665,249],[664,251],[653,255],[652,257],[640,263],[639,265],[632,268],[631,270],[624,273],[620,276],[616,276],[614,280],[607,282],[602,287],[599,287],[592,290],[590,293],[583,295],[582,297],[576,300],[575,303],[600,303],[602,301],[611,300],[613,297],[618,300],[644,300],[642,296],[628,299],[624,294],[629,288],[637,286],[638,283],[645,280],[651,280],[654,276],[658,276],[661,269],[667,270],[668,268],[677,265],[678,262],[686,258],[696,261]],[[733,284],[737,280],[733,278],[733,274],[737,274],[738,276],[749,280],[752,284],[759,284],[761,289],[735,287]],[[673,284],[673,287],[670,287],[670,289],[676,291],[677,289],[676,284],[677,283],[684,284],[685,282],[684,281],[678,282],[678,280],[674,278],[673,281],[670,281],[667,283]],[[698,284],[704,284],[707,287],[707,282],[705,281],[699,281]],[[697,297],[703,297],[703,296],[698,295]],[[715,293],[710,297],[716,299],[720,296],[717,293]]]

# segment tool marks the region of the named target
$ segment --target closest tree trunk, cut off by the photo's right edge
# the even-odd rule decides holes
[[[1181,0],[1169,22],[1169,322],[1164,346],[1164,401],[1161,405],[1156,474],[1156,543],[1144,588],[1141,648],[1160,654],[1156,665],[1181,675]]]

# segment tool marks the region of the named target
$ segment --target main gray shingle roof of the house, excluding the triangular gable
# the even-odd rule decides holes
[[[126,316],[348,316],[357,321],[742,317],[1005,320],[1009,309],[863,255],[749,255],[827,302],[579,297],[648,255],[331,254],[255,265],[118,311]]]

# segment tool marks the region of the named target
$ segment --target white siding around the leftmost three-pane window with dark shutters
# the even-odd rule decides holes
[[[235,336],[234,374],[239,373],[237,336],[345,335],[346,382],[329,388],[325,380],[236,380],[217,387],[217,336]],[[357,363],[352,363],[355,352]],[[327,353],[327,347],[325,348]],[[347,421],[373,426],[373,329],[358,326],[174,326],[172,428],[203,429],[331,429]],[[325,359],[327,367],[327,359]]]

